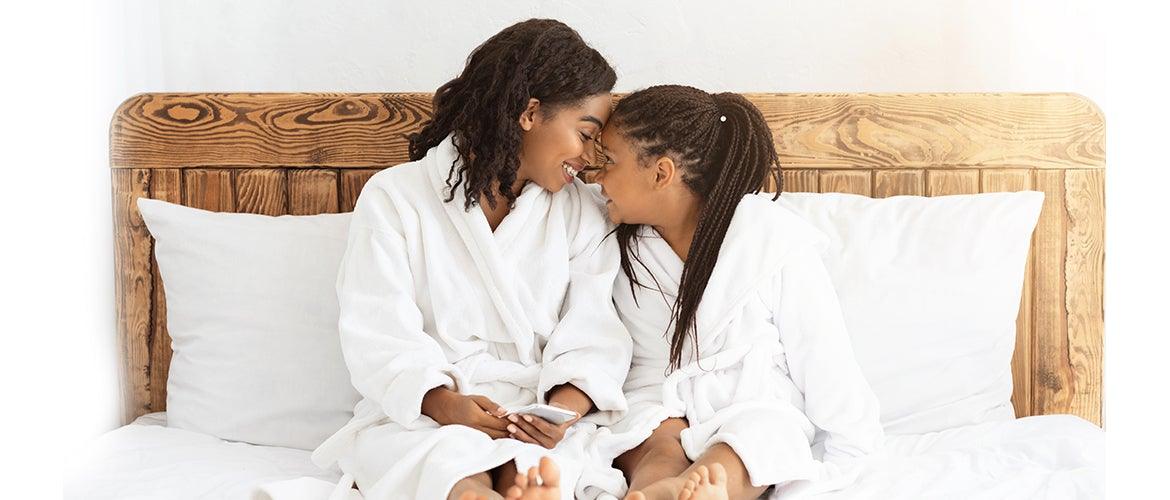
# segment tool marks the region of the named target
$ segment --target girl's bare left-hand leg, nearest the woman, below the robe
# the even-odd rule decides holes
[[[668,418],[642,444],[613,461],[629,482],[628,499],[677,498],[686,482],[679,475],[690,465],[679,440],[684,429],[686,419]]]

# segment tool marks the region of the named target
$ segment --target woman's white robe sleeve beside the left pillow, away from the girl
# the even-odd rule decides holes
[[[401,425],[419,418],[427,391],[459,379],[422,330],[414,280],[400,217],[384,191],[363,190],[337,276],[342,352],[355,389]]]

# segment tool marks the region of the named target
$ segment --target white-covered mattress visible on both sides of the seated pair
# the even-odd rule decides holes
[[[309,452],[229,443],[165,426],[164,413],[108,432],[70,460],[67,499],[248,499],[264,484],[337,482]],[[775,498],[1099,499],[1104,432],[1067,415],[1027,417],[927,434],[889,436],[845,489]]]

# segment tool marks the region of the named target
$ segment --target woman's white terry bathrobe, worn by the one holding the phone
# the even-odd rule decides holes
[[[336,461],[367,500],[442,499],[461,478],[509,460],[526,470],[548,454],[572,498],[581,474],[613,474],[593,460],[592,443],[598,425],[626,410],[632,345],[611,297],[611,226],[599,193],[574,180],[558,193],[526,185],[493,232],[479,206],[463,210],[463,189],[443,201],[456,158],[448,139],[362,190],[337,296],[363,400],[312,459]],[[551,452],[420,413],[440,385],[511,406],[545,403],[564,383],[598,412]]]

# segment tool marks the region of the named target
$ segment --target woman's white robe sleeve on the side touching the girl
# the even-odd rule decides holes
[[[615,422],[626,411],[621,386],[629,372],[633,340],[613,306],[613,282],[620,260],[617,239],[603,208],[581,189],[570,211],[569,289],[560,321],[544,347],[537,384],[542,403],[549,390],[565,383],[584,391],[601,416]]]

